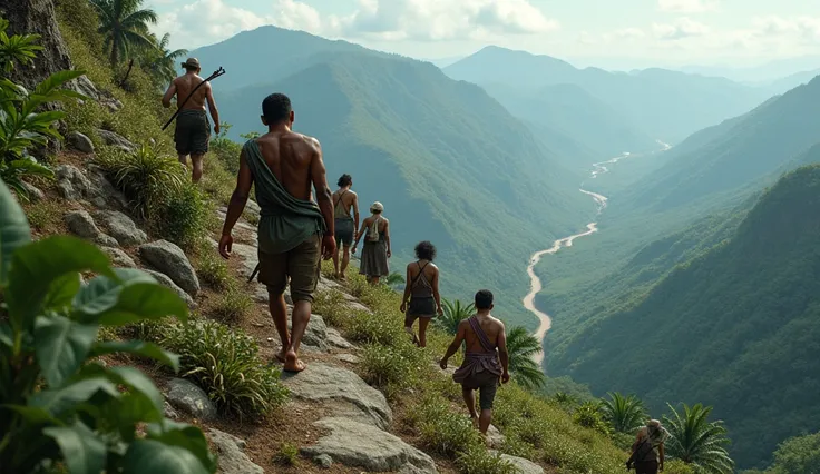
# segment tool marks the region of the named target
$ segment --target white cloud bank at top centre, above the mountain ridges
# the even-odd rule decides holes
[[[534,34],[558,29],[528,0],[360,0],[333,23],[350,38],[456,40]]]

